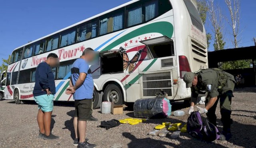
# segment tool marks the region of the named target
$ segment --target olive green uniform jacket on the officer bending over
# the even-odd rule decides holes
[[[198,73],[196,87],[191,87],[191,97],[197,98],[198,94],[205,94],[207,92],[210,98],[214,98],[227,91],[233,91],[234,83],[234,76],[230,73],[220,69],[204,69]]]

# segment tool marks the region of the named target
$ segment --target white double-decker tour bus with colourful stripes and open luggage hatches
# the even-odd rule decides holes
[[[86,47],[100,53],[98,64],[90,66],[94,109],[102,101],[154,97],[160,89],[170,100],[186,99],[191,91],[184,74],[208,67],[206,32],[195,0],[132,0],[14,49],[5,99],[33,100],[36,67],[56,53],[55,101],[74,101],[64,92],[70,67]]]

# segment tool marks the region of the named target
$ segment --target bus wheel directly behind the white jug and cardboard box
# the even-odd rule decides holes
[[[123,95],[121,89],[114,84],[108,85],[104,90],[104,101],[113,102],[115,105],[122,105]]]

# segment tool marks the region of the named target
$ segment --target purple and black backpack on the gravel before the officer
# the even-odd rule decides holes
[[[208,142],[218,140],[220,132],[214,124],[210,123],[205,117],[201,116],[198,111],[191,112],[187,123],[188,133],[197,139]]]

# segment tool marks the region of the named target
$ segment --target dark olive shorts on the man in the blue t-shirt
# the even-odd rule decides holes
[[[90,121],[92,116],[92,99],[75,100],[75,117],[80,121]]]

